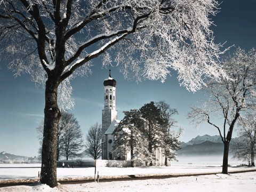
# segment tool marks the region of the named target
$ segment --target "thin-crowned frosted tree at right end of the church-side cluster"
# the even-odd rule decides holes
[[[156,107],[160,109],[160,114],[164,122],[162,125],[162,132],[164,133],[162,135],[163,145],[161,147],[164,149],[164,165],[168,166],[168,159],[169,161],[176,159],[177,154],[175,154],[174,151],[180,149],[180,142],[178,138],[183,130],[181,128],[176,132],[174,130],[174,126],[177,121],[172,117],[178,114],[177,109],[171,108],[171,106],[165,101],[156,102]]]

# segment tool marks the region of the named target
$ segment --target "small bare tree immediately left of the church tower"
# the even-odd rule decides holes
[[[86,154],[93,159],[101,157],[101,124],[92,125],[85,137]]]

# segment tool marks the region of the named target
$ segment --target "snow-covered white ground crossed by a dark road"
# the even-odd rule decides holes
[[[7,168],[16,166],[13,168]],[[38,165],[35,167],[24,167],[25,165],[0,164],[0,181],[7,182],[10,179],[32,179],[37,178]],[[27,164],[26,166],[31,166]],[[38,167],[36,167],[38,166]],[[250,170],[255,168],[249,167],[229,167],[229,172],[238,170]],[[100,178],[121,177],[121,175],[155,175],[155,174],[192,174],[192,173],[213,173],[221,172],[219,165],[172,165],[170,167],[99,167]],[[83,168],[58,168],[58,178],[94,178],[94,167]],[[252,191],[256,188],[256,172],[212,174],[201,176],[187,176],[168,179],[147,179],[147,180],[130,180],[130,181],[111,181],[99,183],[84,183],[76,185],[58,185],[50,188],[41,183],[34,185],[22,185],[14,187],[3,187],[0,191]]]

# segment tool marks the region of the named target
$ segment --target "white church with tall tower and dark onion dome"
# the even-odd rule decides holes
[[[104,108],[102,109],[102,159],[109,160],[131,160],[131,154],[128,153],[125,157],[116,157],[112,149],[114,144],[114,136],[112,135],[115,127],[118,126],[116,110],[116,80],[111,77],[109,70],[109,77],[103,82],[104,85]],[[154,165],[163,165],[164,156],[161,148],[155,150],[157,161],[153,162]]]

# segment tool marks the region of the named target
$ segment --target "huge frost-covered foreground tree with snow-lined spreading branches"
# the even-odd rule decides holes
[[[70,108],[70,79],[92,59],[116,63],[125,77],[161,79],[178,71],[196,91],[206,77],[226,76],[210,29],[215,0],[0,0],[0,54],[15,76],[45,87],[41,182],[57,186],[59,103]]]

